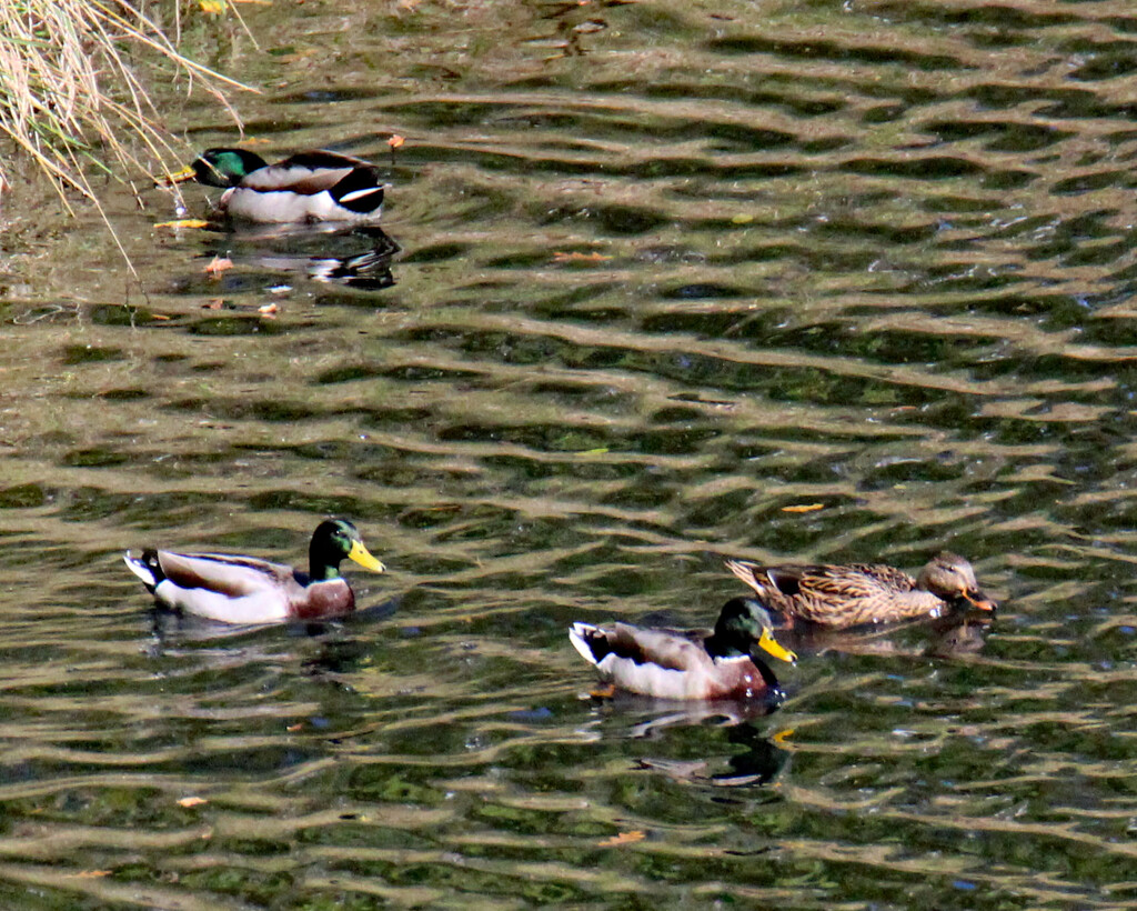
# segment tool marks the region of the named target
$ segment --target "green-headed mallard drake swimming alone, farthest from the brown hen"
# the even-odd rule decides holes
[[[144,550],[123,557],[158,604],[224,623],[325,620],[355,610],[340,575],[347,557],[372,572],[385,569],[343,519],[321,522],[308,545],[308,572],[233,554]]]

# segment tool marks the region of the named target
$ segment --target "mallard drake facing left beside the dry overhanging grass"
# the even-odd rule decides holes
[[[250,222],[374,222],[383,213],[379,168],[323,150],[269,165],[248,149],[206,149],[173,180],[225,188],[217,208]]]

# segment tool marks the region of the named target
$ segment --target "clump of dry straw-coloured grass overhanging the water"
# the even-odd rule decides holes
[[[0,0],[0,133],[52,177],[68,210],[68,189],[98,205],[92,166],[130,181],[176,157],[147,90],[159,74],[205,89],[238,119],[224,90],[244,86],[180,53],[141,5]]]

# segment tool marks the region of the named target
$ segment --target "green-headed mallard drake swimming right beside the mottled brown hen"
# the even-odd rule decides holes
[[[754,698],[777,691],[778,678],[755,646],[794,662],[771,635],[773,623],[753,598],[723,606],[714,630],[644,629],[630,623],[573,623],[568,638],[600,677],[622,689],[665,699]]]

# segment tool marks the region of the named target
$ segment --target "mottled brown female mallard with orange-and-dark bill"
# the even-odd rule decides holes
[[[947,552],[932,558],[915,579],[893,566],[868,563],[760,566],[728,560],[727,568],[770,611],[838,629],[939,616],[958,604],[980,611],[996,606],[980,590],[971,564]]]

